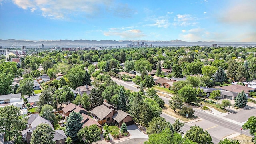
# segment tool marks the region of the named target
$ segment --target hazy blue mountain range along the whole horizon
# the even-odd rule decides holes
[[[144,42],[148,45],[152,44],[153,46],[196,46],[196,45],[204,45],[204,46],[211,46],[212,44],[218,45],[256,45],[256,42],[205,42],[205,41],[198,41],[198,42],[186,42],[182,40],[170,40],[170,41],[148,41],[148,40],[42,40],[42,41],[32,41],[32,40],[15,40],[15,39],[8,39],[8,40],[1,40],[0,39],[0,46],[42,46],[44,44],[45,47],[50,46],[126,46],[127,44],[132,44],[132,42]]]

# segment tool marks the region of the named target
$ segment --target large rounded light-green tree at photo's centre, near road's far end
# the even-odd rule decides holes
[[[148,60],[141,58],[140,60],[136,60],[134,68],[142,75],[142,78],[144,78],[148,72],[152,71],[152,64],[150,64]]]

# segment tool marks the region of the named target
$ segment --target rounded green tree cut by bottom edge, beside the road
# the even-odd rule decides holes
[[[184,138],[198,144],[213,144],[210,134],[206,130],[204,131],[200,126],[191,126]]]

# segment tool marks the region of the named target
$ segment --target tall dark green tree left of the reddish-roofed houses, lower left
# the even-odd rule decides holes
[[[47,88],[42,90],[42,94],[40,95],[39,101],[37,102],[39,112],[45,104],[51,106],[53,105],[53,94]]]

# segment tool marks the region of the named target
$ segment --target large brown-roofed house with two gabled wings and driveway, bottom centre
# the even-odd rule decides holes
[[[116,110],[114,106],[107,102],[103,102],[102,105],[97,106],[91,112],[94,119],[101,125],[104,123],[117,123],[120,128],[123,122],[125,122],[127,126],[134,124],[132,116],[122,110]]]

